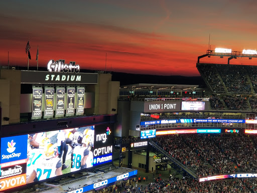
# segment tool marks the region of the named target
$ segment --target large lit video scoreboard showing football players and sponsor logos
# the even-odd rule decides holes
[[[111,161],[106,125],[2,138],[0,191]]]

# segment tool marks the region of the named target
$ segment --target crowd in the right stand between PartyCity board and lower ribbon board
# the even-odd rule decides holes
[[[154,141],[182,164],[194,169],[199,177],[257,171],[254,139],[243,134],[233,137],[169,135],[158,136]]]

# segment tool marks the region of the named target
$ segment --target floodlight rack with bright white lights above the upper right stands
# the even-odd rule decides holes
[[[250,50],[251,52],[247,52],[247,50],[243,50],[243,52],[231,51],[229,49],[224,49],[224,52],[217,52],[216,50],[207,50],[207,53],[201,56],[198,56],[197,63],[200,63],[200,59],[203,57],[210,57],[210,56],[219,56],[221,58],[227,58],[227,64],[229,64],[229,60],[236,59],[237,57],[242,58],[257,58],[257,53],[255,50]],[[255,51],[255,52],[254,52]]]

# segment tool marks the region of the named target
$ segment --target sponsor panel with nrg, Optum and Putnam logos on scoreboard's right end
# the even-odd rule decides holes
[[[95,126],[93,165],[99,165],[112,161],[112,131],[110,127]]]

